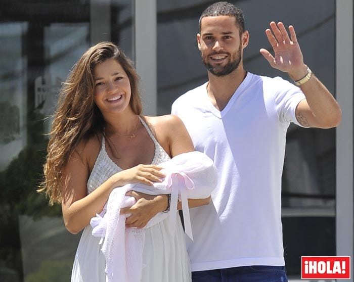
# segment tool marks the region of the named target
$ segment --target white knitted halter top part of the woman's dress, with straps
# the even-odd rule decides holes
[[[146,130],[148,131],[151,139],[155,144],[155,154],[151,164],[158,165],[165,161],[170,160],[171,158],[168,156],[165,150],[161,147],[161,145],[157,142],[154,135],[151,133],[149,126],[145,123],[145,121],[139,116],[141,123],[144,125]],[[109,177],[113,174],[122,171],[122,169],[113,162],[113,160],[108,156],[106,152],[105,146],[105,137],[102,136],[102,146],[101,151],[97,156],[94,168],[90,174],[89,180],[87,180],[87,194],[93,192],[98,186],[102,185]]]

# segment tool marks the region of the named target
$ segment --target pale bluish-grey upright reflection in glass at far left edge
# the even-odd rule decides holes
[[[22,54],[27,23],[0,24],[0,170],[26,145],[27,60]]]

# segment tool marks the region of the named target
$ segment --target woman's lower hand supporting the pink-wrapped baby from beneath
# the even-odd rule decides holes
[[[143,228],[158,212],[167,209],[166,195],[148,195],[135,191],[129,191],[125,195],[137,200],[135,205],[120,210],[120,214],[131,214],[125,220],[126,227]]]

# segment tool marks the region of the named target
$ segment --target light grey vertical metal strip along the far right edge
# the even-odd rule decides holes
[[[336,250],[353,259],[353,2],[336,0]],[[351,263],[351,279],[353,267]]]

